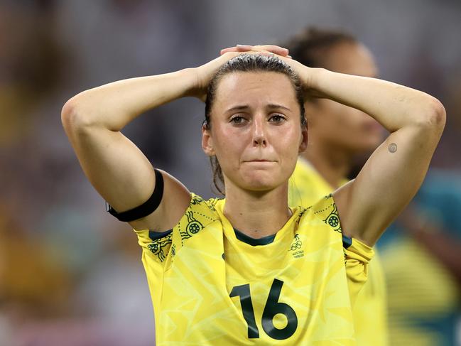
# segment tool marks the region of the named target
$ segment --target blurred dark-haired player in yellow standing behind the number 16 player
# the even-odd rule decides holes
[[[349,75],[377,77],[370,51],[344,31],[306,28],[284,44],[293,59]],[[357,156],[370,154],[384,137],[368,114],[331,99],[308,99],[308,148],[301,154],[289,185],[289,204],[308,207],[347,183]],[[368,279],[354,306],[357,345],[387,345],[386,286],[375,249]]]

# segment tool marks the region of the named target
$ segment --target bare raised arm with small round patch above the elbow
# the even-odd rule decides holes
[[[314,94],[362,110],[391,133],[357,178],[334,193],[343,232],[373,245],[420,188],[445,109],[424,92],[384,80],[295,68]]]

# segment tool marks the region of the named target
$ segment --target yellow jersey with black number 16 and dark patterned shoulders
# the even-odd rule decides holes
[[[192,199],[178,225],[136,231],[156,345],[355,345],[352,304],[373,250],[343,238],[332,196],[253,239],[225,200]]]

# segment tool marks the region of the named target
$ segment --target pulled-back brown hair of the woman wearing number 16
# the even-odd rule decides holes
[[[301,126],[305,126],[303,88],[294,70],[283,60],[273,55],[242,54],[222,65],[208,85],[207,99],[205,101],[205,120],[202,124],[205,129],[211,129],[211,110],[215,101],[217,85],[224,75],[232,72],[278,72],[286,75],[291,80],[298,100]],[[210,157],[210,163],[213,171],[213,184],[216,190],[224,195],[224,190],[219,186],[222,185],[224,188],[224,176],[216,156]]]

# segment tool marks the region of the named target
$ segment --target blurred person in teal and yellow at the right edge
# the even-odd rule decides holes
[[[448,144],[455,144],[457,134],[457,145],[440,147],[451,153],[440,153],[443,168],[430,168],[379,242],[393,346],[461,345],[461,174],[452,169],[460,167],[460,92],[457,85],[445,94]]]

